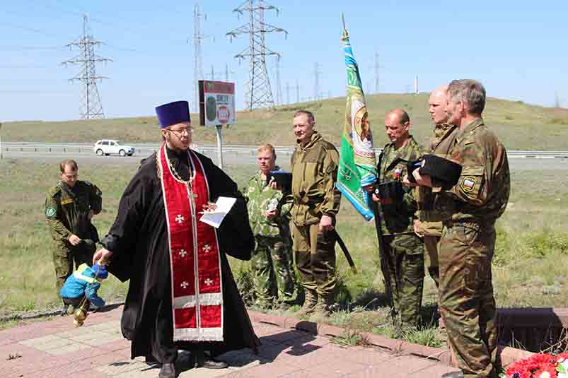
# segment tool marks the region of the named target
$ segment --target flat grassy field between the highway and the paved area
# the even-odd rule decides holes
[[[280,162],[283,163],[283,162]],[[282,164],[284,167],[287,164]],[[110,228],[120,195],[136,165],[88,164],[81,179],[95,182],[103,191],[103,211],[93,218],[101,236]],[[228,166],[229,175],[245,184],[253,165]],[[45,194],[59,177],[57,165],[35,160],[0,160],[0,317],[59,307],[54,288],[51,237],[44,216]],[[509,208],[497,223],[494,288],[499,307],[565,307],[568,302],[568,177],[555,171],[513,171]],[[352,331],[344,343],[357,343],[357,333],[395,336],[383,298],[373,223],[366,223],[347,201],[342,201],[337,230],[349,247],[359,270],[352,273],[340,252],[336,312],[328,322]],[[250,264],[231,259],[243,293],[250,293]],[[105,300],[124,297],[127,285],[105,280]],[[424,283],[424,324],[403,335],[409,341],[441,345],[431,319],[436,288]],[[297,309],[297,308],[296,308]],[[289,315],[282,309],[275,314]],[[7,319],[0,329],[16,324]],[[349,337],[347,337],[349,336]]]

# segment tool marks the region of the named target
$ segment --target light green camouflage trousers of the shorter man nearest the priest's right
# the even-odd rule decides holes
[[[257,305],[296,299],[296,274],[289,244],[278,237],[256,237],[257,247],[250,259]]]

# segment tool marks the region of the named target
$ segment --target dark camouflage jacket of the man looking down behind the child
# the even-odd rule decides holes
[[[65,182],[58,182],[47,191],[45,199],[45,218],[53,240],[66,242],[74,234],[98,242],[89,212],[98,214],[102,206],[103,194],[95,184],[78,180],[70,188]]]

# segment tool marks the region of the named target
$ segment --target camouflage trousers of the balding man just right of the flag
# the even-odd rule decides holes
[[[424,244],[414,234],[385,236],[395,325],[417,326],[424,288]]]

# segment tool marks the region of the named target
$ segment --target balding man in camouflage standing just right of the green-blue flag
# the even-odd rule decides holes
[[[385,127],[391,143],[382,152],[380,167],[381,183],[400,182],[407,172],[407,161],[417,160],[422,154],[415,138],[410,135],[410,118],[407,112],[395,109],[388,112]],[[402,159],[399,163],[395,160]],[[403,193],[398,199],[379,198],[373,194],[373,201],[381,203],[381,228],[383,249],[388,260],[389,277],[393,291],[393,306],[398,331],[403,327],[417,326],[422,304],[424,286],[424,244],[413,228],[415,208],[405,196],[412,189],[402,186]]]

